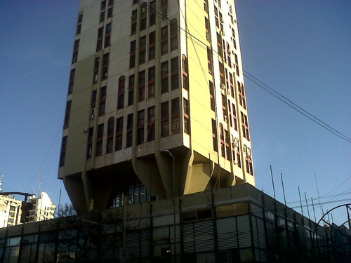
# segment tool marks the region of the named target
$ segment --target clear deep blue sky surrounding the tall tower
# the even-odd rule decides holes
[[[69,202],[57,173],[78,6],[79,0],[0,1],[1,187],[37,194],[42,171],[41,191],[56,205],[60,189],[61,202]],[[350,12],[348,0],[237,0],[244,70],[347,137]],[[272,165],[281,202],[280,173],[290,206],[299,205],[298,187],[318,202],[315,178],[321,201],[329,202],[324,211],[351,203],[350,142],[245,83],[256,187],[273,196]],[[316,213],[318,220],[320,208]],[[345,211],[333,220],[345,221]]]

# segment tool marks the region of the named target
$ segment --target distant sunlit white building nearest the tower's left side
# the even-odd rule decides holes
[[[55,217],[56,205],[53,204],[45,191],[42,191],[39,197],[34,196],[30,198],[29,202],[33,203],[33,210],[30,210],[29,222],[50,220]]]

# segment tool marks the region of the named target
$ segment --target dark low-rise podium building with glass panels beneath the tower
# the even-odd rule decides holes
[[[126,200],[0,229],[0,262],[351,262],[350,229],[322,227],[250,184]]]

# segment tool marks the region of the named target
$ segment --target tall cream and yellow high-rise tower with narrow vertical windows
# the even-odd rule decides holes
[[[253,174],[234,0],[81,0],[58,172],[74,207]]]

